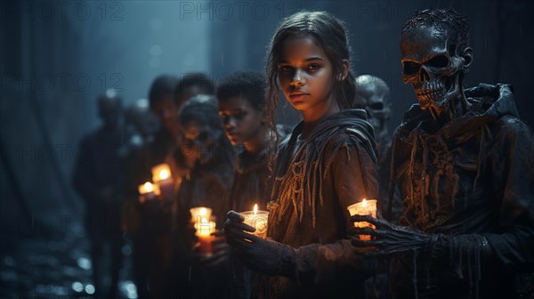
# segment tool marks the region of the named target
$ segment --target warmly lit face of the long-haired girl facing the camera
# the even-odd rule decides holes
[[[287,101],[301,112],[323,113],[334,101],[333,67],[312,36],[289,37],[282,43],[279,82]]]

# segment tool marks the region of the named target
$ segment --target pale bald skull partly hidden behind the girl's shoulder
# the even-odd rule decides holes
[[[353,107],[368,112],[368,121],[373,125],[376,137],[387,134],[386,121],[392,114],[392,105],[388,101],[389,93],[389,87],[379,77],[371,75],[356,77]]]

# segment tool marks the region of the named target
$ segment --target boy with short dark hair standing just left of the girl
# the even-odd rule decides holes
[[[265,77],[255,72],[236,73],[219,85],[216,94],[226,136],[231,144],[242,146],[229,195],[231,208],[250,211],[258,205],[260,210],[265,210],[269,153],[274,145],[274,133],[265,116]],[[249,298],[254,273],[235,259],[232,259],[232,271],[232,297]]]

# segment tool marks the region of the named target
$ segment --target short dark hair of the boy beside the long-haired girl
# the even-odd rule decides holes
[[[233,74],[217,87],[217,99],[226,101],[231,97],[242,97],[256,111],[265,109],[265,76],[259,72]]]

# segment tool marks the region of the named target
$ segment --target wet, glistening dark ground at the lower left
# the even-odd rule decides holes
[[[0,237],[0,298],[94,297],[89,243],[83,233],[55,230]],[[122,251],[117,298],[137,298],[130,277],[132,247],[125,245]],[[109,280],[104,277],[104,283]]]

